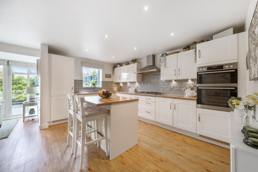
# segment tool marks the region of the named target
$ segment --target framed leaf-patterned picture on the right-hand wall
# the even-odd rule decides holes
[[[248,30],[249,54],[249,80],[258,79],[258,8],[255,7],[254,15]]]

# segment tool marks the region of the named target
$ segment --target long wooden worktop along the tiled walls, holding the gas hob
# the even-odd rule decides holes
[[[116,91],[112,93],[120,93],[120,94],[132,94],[132,95],[140,95],[140,96],[153,96],[153,97],[165,97],[165,98],[171,98],[171,99],[184,99],[184,100],[196,100],[197,97],[185,97],[182,95],[171,95],[171,94],[137,94],[137,93],[129,93],[126,91]],[[98,93],[74,93],[75,95],[87,95],[87,94],[98,94]]]

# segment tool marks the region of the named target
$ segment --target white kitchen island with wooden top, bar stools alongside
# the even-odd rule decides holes
[[[85,97],[85,103],[102,107],[108,111],[108,148],[110,160],[138,143],[138,100],[112,95],[102,99],[99,96]],[[104,135],[104,121],[100,121],[100,132]],[[93,126],[93,124],[89,124]],[[93,133],[90,137],[94,138]],[[100,147],[106,152],[105,141]]]

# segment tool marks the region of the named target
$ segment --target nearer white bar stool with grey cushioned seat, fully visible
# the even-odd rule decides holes
[[[83,107],[83,98],[82,97],[75,97],[75,108],[76,108],[76,142],[75,142],[75,151],[74,151],[74,158],[76,158],[77,153],[77,146],[81,148],[81,154],[80,154],[80,169],[82,169],[83,165],[83,156],[84,156],[84,148],[87,145],[93,144],[97,142],[98,147],[100,146],[99,141],[105,139],[106,144],[106,155],[109,156],[108,151],[108,110],[100,107],[93,107],[93,108],[87,108],[84,109]],[[104,128],[105,128],[105,136],[103,136],[100,133],[100,125],[99,120],[104,118]],[[79,135],[79,122],[82,122],[82,134]],[[96,129],[94,128],[92,131],[89,131],[90,129],[86,129],[86,122],[94,121],[96,122]],[[85,133],[86,132],[86,133]],[[94,133],[94,140],[90,142],[85,142],[85,136],[86,134]],[[97,137],[96,137],[97,135]],[[79,137],[81,137],[81,143],[79,142]]]

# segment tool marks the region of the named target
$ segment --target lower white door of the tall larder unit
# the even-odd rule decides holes
[[[68,118],[67,96],[51,96],[51,121]]]

